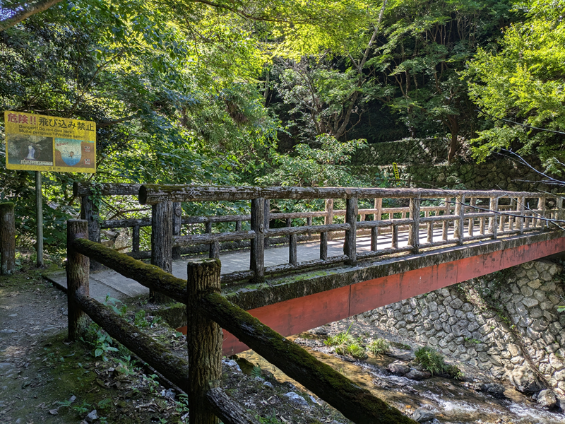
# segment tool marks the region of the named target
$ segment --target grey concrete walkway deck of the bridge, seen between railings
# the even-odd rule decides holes
[[[453,237],[451,229],[448,238]],[[434,240],[441,239],[441,229],[434,230]],[[426,242],[426,230],[420,230],[420,242]],[[398,233],[398,247],[408,245],[408,231]],[[377,239],[378,249],[391,247],[391,235],[379,235]],[[357,252],[369,252],[371,249],[371,237],[357,237]],[[343,254],[343,239],[328,240],[328,257]],[[172,264],[172,274],[178,278],[186,279],[186,263],[188,261],[208,257],[200,255],[198,257],[183,257]],[[232,250],[220,252],[222,261],[222,274],[234,271],[249,270],[249,249]],[[318,241],[302,243],[297,246],[297,258],[299,262],[319,259],[320,244]],[[288,263],[288,246],[271,247],[265,250],[265,266],[283,265]],[[51,273],[44,275],[62,290],[66,290],[66,273]],[[96,300],[105,300],[109,295],[111,298],[124,299],[133,298],[138,295],[148,295],[149,289],[139,284],[137,281],[121,276],[120,273],[112,269],[90,272],[90,296]]]

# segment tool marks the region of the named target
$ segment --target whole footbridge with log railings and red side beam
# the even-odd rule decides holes
[[[565,250],[563,199],[554,194],[139,184],[96,190],[138,196],[152,216],[98,222],[91,187],[76,184],[90,240],[100,241],[100,228],[131,227],[130,255],[150,257],[169,273],[187,252],[237,258],[239,269],[222,273],[222,293],[284,336]],[[295,207],[319,201],[323,210],[281,212],[288,199]],[[184,202],[248,202],[250,213],[182,216]],[[149,252],[139,249],[143,226],[152,230]],[[249,267],[241,266],[244,258]],[[224,338],[225,354],[246,349]]]

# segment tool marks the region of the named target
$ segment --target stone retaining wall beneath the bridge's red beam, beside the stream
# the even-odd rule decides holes
[[[563,269],[532,261],[362,314],[376,326],[427,343],[506,377],[524,392],[545,386],[565,399]]]

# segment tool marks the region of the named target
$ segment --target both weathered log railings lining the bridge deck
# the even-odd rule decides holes
[[[88,198],[90,192],[85,184],[76,184],[74,189],[83,200]],[[137,193],[141,204],[151,205],[151,218],[100,221],[98,231],[100,228],[133,228],[132,255],[150,257],[152,264],[167,272],[171,271],[172,259],[191,247],[208,249],[210,258],[220,257],[222,247],[250,247],[249,271],[222,275],[222,283],[248,279],[261,282],[276,273],[339,263],[355,265],[357,260],[386,254],[417,254],[420,249],[543,231],[547,229],[548,220],[562,220],[564,215],[561,196],[530,192],[152,184],[119,184],[117,187],[105,184],[97,187],[97,192],[104,196]],[[325,207],[323,211],[270,213],[272,199],[323,199]],[[336,199],[345,201],[346,208],[334,209]],[[363,199],[370,199],[373,207],[358,208],[359,200]],[[182,202],[191,201],[250,201],[251,213],[182,216]],[[391,201],[400,205],[387,207]],[[434,204],[425,204],[426,201]],[[335,223],[336,217],[343,217],[338,218],[343,219],[343,223]],[[316,218],[323,218],[323,224],[314,224]],[[270,228],[275,220],[284,220],[285,227]],[[297,220],[302,223],[305,220],[306,225],[292,226]],[[245,230],[244,222],[249,223]],[[234,231],[213,232],[213,225],[218,223],[234,223]],[[195,224],[203,224],[205,233],[181,235],[182,225]],[[139,229],[146,226],[152,227],[152,248],[143,253],[139,252]],[[91,232],[92,227],[89,221],[89,238],[99,241],[99,235],[96,239]],[[407,231],[408,244],[405,245],[400,235]],[[370,249],[357,252],[357,236],[363,233],[370,234]],[[328,240],[336,237],[344,237],[343,254],[328,257]],[[319,240],[319,259],[299,261],[297,245],[301,240]],[[383,247],[383,240],[390,240],[390,244]],[[265,249],[278,242],[288,245],[288,262],[266,267]]]

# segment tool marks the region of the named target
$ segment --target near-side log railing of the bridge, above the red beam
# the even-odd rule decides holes
[[[312,213],[269,214],[270,199],[326,199],[324,211]],[[335,199],[345,200],[346,208],[333,209]],[[359,199],[374,199],[374,208],[358,208]],[[383,199],[396,199],[408,206],[383,208]],[[434,189],[346,189],[304,187],[197,187],[173,185],[144,185],[140,188],[139,201],[153,208],[172,202],[188,201],[242,201],[251,200],[249,221],[251,230],[222,232],[206,235],[167,236],[173,246],[194,244],[210,245],[210,257],[218,257],[218,244],[225,241],[250,240],[251,258],[249,271],[222,275],[222,283],[241,280],[261,282],[268,275],[298,271],[329,264],[355,266],[358,260],[383,254],[412,252],[420,249],[441,247],[448,244],[463,245],[475,240],[508,237],[525,231],[542,231],[547,221],[562,214],[560,196],[528,192],[477,192]],[[432,206],[422,204],[431,202]],[[504,201],[506,204],[501,204]],[[531,205],[531,206],[530,206]],[[164,209],[165,210],[165,209]],[[323,216],[323,225],[311,225],[312,218]],[[273,218],[309,218],[300,227],[268,228]],[[344,223],[333,223],[335,216],[345,216]],[[372,220],[367,217],[372,216]],[[170,218],[165,218],[165,220]],[[225,219],[248,216],[226,217]],[[360,220],[359,220],[360,218]],[[208,219],[210,218],[199,218]],[[221,217],[215,219],[222,219]],[[371,247],[357,252],[357,234],[360,230],[371,234]],[[439,233],[441,230],[441,234]],[[408,231],[408,242],[400,240]],[[345,232],[343,254],[329,257],[328,240],[335,232]],[[297,236],[319,235],[319,259],[298,261]],[[379,235],[386,235],[388,246],[379,247]],[[266,239],[288,237],[288,263],[264,266]],[[382,243],[381,243],[382,244]],[[162,252],[165,252],[162,249]],[[166,259],[162,261],[167,261]]]

